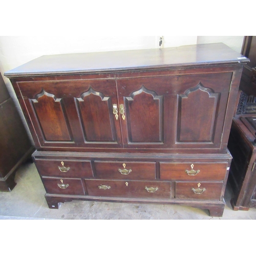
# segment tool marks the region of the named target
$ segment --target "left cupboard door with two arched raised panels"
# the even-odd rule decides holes
[[[33,81],[18,86],[33,124],[31,133],[41,147],[122,147],[114,80]]]

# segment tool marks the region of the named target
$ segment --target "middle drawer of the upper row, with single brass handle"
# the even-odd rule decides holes
[[[156,178],[155,162],[102,162],[95,161],[97,178],[154,180]]]

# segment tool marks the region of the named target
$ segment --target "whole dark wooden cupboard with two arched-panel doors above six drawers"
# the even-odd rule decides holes
[[[174,203],[222,216],[247,61],[220,43],[49,55],[6,72],[49,207]]]

